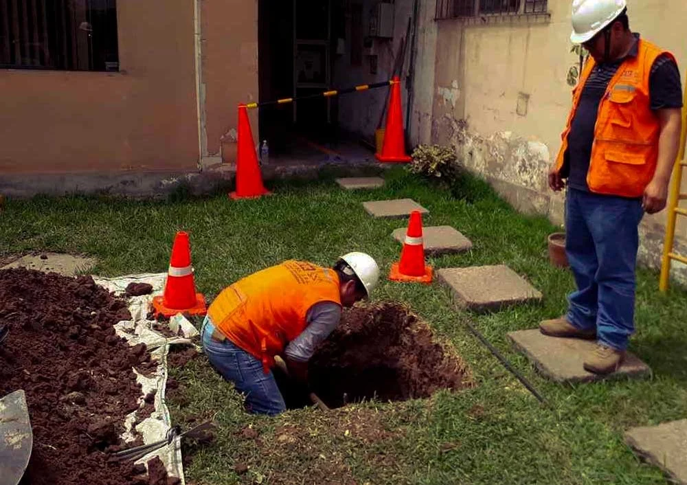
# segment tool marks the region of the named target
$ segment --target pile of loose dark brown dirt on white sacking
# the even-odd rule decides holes
[[[107,453],[130,446],[118,436],[139,407],[131,368],[150,361],[145,346],[115,335],[113,324],[130,318],[126,302],[89,276],[0,271],[0,323],[10,326],[0,396],[25,390],[34,432],[23,485],[149,483],[141,467]]]

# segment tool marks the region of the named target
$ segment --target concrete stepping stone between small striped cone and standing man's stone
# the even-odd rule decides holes
[[[440,269],[437,274],[453,290],[453,302],[472,311],[498,311],[541,300],[534,286],[503,264]]]

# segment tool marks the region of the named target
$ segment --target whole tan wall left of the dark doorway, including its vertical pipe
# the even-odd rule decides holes
[[[221,161],[236,106],[258,96],[257,1],[118,0],[117,29],[120,72],[0,70],[0,174]]]

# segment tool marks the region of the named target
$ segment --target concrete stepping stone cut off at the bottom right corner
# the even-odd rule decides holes
[[[629,429],[625,442],[673,481],[687,485],[687,419]]]

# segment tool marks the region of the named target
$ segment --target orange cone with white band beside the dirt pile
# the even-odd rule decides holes
[[[205,315],[205,297],[196,293],[191,267],[191,248],[187,232],[177,232],[172,245],[172,257],[163,295],[153,298],[155,317],[171,317],[177,313]]]

